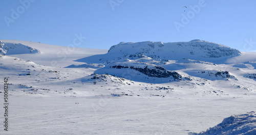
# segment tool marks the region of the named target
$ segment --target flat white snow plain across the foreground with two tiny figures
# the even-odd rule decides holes
[[[253,110],[255,106],[248,105],[254,103],[253,98],[41,97],[11,94],[9,131],[0,132],[186,134],[213,127],[230,114]]]

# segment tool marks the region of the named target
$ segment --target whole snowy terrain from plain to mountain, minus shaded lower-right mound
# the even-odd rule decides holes
[[[255,111],[256,53],[201,40],[109,52],[2,41],[40,53],[0,56],[10,98],[9,131],[0,134],[187,134]]]

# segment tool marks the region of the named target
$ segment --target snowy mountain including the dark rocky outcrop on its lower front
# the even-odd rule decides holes
[[[229,66],[222,68],[217,64],[226,64],[228,59],[241,54],[239,50],[228,46],[202,40],[175,43],[121,42],[113,45],[104,55],[76,61],[104,65],[95,71],[98,74],[107,73],[136,82],[167,83],[187,80],[191,76],[209,80],[237,79],[227,71]],[[197,65],[197,70],[188,70],[191,65]],[[183,69],[182,72],[175,72],[180,69]]]

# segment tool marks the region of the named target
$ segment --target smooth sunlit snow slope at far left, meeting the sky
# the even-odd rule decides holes
[[[1,40],[5,45],[16,46],[15,49],[9,49],[6,55],[33,61],[36,64],[52,66],[52,67],[66,67],[72,64],[80,64],[74,62],[79,58],[84,58],[92,55],[106,53],[105,49],[91,49],[91,48],[77,48],[77,47],[65,47],[58,45],[49,45],[44,43],[37,43],[31,41],[19,41],[19,40]],[[22,46],[20,46],[22,44]],[[28,49],[26,49],[28,47]],[[1,51],[0,46],[0,51]],[[33,50],[35,49],[35,50]],[[5,50],[5,49],[4,49]],[[16,50],[16,51],[15,51]],[[20,51],[22,50],[22,51]],[[40,53],[30,53],[38,52]]]

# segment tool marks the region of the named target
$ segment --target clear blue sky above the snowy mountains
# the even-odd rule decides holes
[[[102,49],[119,42],[201,39],[256,50],[252,0],[12,0],[0,5],[0,39],[67,46],[81,35],[86,39],[77,47]]]

